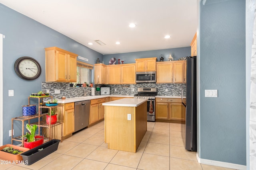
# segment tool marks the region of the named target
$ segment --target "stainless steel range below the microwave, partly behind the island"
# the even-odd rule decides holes
[[[148,99],[147,103],[147,120],[155,121],[155,96],[156,88],[138,88],[138,94],[134,94],[134,98]]]

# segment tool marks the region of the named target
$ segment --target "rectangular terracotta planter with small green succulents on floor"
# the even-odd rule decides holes
[[[28,151],[28,148],[18,147],[17,145],[6,144],[0,147],[0,159],[8,161],[23,160],[23,152]]]

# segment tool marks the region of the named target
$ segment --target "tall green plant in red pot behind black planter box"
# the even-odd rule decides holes
[[[37,125],[29,125],[27,123],[26,129],[29,131],[29,133],[26,132],[26,135],[23,136],[23,137],[27,138],[24,140],[25,148],[32,149],[32,148],[42,145],[44,143],[43,136],[35,136]]]

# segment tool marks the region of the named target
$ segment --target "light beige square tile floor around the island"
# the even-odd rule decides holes
[[[1,164],[8,170],[231,170],[200,164],[196,152],[187,151],[180,124],[148,122],[148,131],[136,153],[108,149],[104,121],[59,143],[58,150],[27,166]]]

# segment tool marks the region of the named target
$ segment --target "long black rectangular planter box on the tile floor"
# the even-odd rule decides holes
[[[38,147],[35,147],[26,152],[23,152],[21,156],[24,160],[24,163],[26,165],[31,165],[31,164],[34,164],[36,161],[44,158],[48,154],[51,154],[52,152],[58,149],[59,142],[60,140],[53,139]],[[38,149],[43,149],[43,150],[38,150]]]

